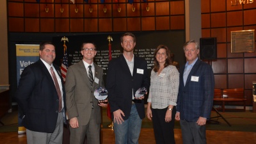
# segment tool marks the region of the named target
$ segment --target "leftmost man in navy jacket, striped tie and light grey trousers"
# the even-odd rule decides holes
[[[56,58],[54,45],[43,42],[39,54],[40,60],[24,68],[15,98],[28,143],[61,144],[66,122],[65,88],[60,68],[52,63]]]

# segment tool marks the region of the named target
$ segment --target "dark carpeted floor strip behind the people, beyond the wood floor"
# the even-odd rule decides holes
[[[107,109],[102,109],[102,128],[108,129],[108,125],[111,123],[111,120],[106,115]],[[206,126],[208,130],[219,130],[219,131],[248,131],[256,132],[256,113],[252,111],[246,112],[225,112],[220,114],[226,118],[230,123],[229,126],[221,117],[213,118],[212,120],[218,120],[217,123],[209,122]],[[18,112],[13,111],[12,113],[7,113],[1,118],[1,122],[4,125],[0,126],[0,132],[12,132],[18,130]],[[217,116],[215,111],[212,111],[212,117]],[[143,119],[142,128],[152,129],[152,122],[147,118]],[[179,121],[175,122],[175,129],[180,129]]]

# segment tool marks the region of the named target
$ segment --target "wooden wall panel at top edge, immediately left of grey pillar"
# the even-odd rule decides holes
[[[184,15],[184,1],[171,1],[170,2],[170,10],[171,15]]]

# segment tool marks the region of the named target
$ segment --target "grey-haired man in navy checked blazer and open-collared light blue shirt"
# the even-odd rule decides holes
[[[205,124],[211,116],[214,74],[211,65],[198,59],[195,40],[184,44],[186,65],[180,68],[176,120],[180,120],[184,144],[206,143]]]

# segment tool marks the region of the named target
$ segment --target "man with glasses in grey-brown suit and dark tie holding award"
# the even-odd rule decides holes
[[[93,63],[96,55],[93,43],[81,45],[83,60],[68,67],[66,77],[67,115],[70,124],[70,143],[82,144],[85,136],[88,144],[100,143],[100,106],[93,93],[96,88],[104,86],[103,70]],[[88,76],[89,66],[92,66],[93,83]]]

